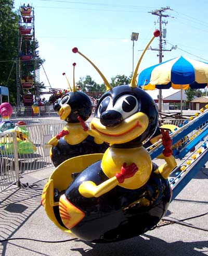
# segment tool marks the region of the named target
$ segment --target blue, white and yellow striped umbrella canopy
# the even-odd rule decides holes
[[[207,83],[208,63],[183,56],[148,67],[138,77],[138,86],[145,90],[201,89]]]

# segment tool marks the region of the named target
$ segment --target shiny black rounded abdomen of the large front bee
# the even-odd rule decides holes
[[[171,200],[167,180],[152,173],[139,189],[117,185],[98,198],[86,198],[79,193],[83,181],[99,185],[107,179],[98,161],[82,171],[66,190],[67,199],[85,213],[81,222],[71,229],[75,235],[90,242],[113,242],[144,234],[157,225]]]

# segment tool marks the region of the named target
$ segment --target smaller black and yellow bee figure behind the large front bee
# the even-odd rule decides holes
[[[73,67],[75,65],[73,63]],[[63,73],[63,75],[66,74]],[[59,103],[54,104],[54,110],[58,112],[59,118],[66,121],[67,124],[59,134],[48,142],[52,146],[50,158],[55,167],[71,157],[103,153],[108,148],[108,144],[88,135],[83,130],[79,120],[86,121],[90,117],[93,104],[84,92],[76,90],[75,83],[73,83],[72,89],[68,79],[67,82],[69,92],[60,99]]]

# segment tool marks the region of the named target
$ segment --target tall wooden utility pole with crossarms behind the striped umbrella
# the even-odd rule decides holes
[[[167,24],[167,21],[163,21],[162,17],[170,17],[170,15],[167,14],[163,14],[163,11],[165,10],[171,10],[170,7],[165,7],[165,8],[161,8],[161,9],[157,9],[157,10],[153,10],[150,13],[153,15],[157,15],[159,16],[159,30],[160,30],[160,38],[159,38],[159,49],[157,49],[159,51],[159,63],[162,62],[162,51],[165,51],[164,49],[162,49],[162,24]],[[155,50],[155,49],[151,49],[151,50]],[[158,110],[159,113],[162,112],[162,89],[159,89],[159,97],[158,97]]]

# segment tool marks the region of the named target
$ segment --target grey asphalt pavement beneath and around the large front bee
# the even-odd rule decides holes
[[[69,241],[73,237],[49,220],[40,202],[43,186],[53,170],[51,167],[25,174],[21,177],[22,188],[12,186],[0,193],[0,235],[1,240],[8,239],[0,245],[1,255],[208,255],[208,168],[200,170],[170,204],[161,227],[132,239],[104,244]]]

